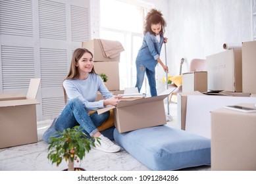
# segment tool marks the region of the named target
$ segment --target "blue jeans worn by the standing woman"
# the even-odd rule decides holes
[[[151,97],[157,96],[157,83],[155,81],[155,71],[152,72],[151,70],[145,68],[145,66],[139,60],[136,60],[136,68],[137,68],[137,81],[136,81],[135,87],[138,87],[138,90],[140,92],[140,89],[143,84],[144,76],[146,73],[147,80],[149,81]]]

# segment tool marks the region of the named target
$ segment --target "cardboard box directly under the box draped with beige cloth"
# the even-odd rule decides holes
[[[106,86],[109,90],[120,90],[119,62],[94,62],[97,74],[106,74],[109,78]]]

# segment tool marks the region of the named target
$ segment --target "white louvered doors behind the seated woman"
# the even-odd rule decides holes
[[[89,0],[0,0],[0,93],[26,94],[41,78],[38,120],[64,106],[62,81],[72,51],[90,39]]]

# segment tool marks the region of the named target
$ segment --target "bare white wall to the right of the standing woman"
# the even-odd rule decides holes
[[[192,58],[205,58],[224,51],[223,43],[252,40],[251,0],[172,0],[169,4],[168,55],[172,72],[182,72]]]

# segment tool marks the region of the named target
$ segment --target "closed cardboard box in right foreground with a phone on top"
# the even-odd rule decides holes
[[[253,107],[253,104],[239,104]],[[256,170],[256,113],[211,112],[211,170]]]

